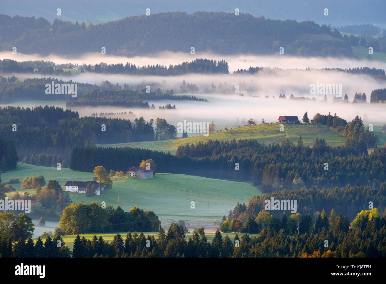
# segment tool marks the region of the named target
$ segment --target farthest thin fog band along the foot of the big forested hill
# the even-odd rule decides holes
[[[350,58],[335,58],[335,57],[299,57],[291,56],[288,54],[277,54],[277,55],[254,55],[254,54],[237,54],[237,55],[221,55],[215,53],[200,53],[190,54],[190,49],[183,52],[170,52],[165,51],[151,56],[135,56],[135,57],[125,57],[125,56],[113,56],[100,53],[85,53],[81,56],[76,57],[67,57],[62,55],[51,54],[49,56],[40,56],[39,54],[22,54],[18,52],[17,54],[12,54],[11,51],[2,51],[0,52],[0,58],[8,58],[17,61],[29,61],[29,60],[44,60],[44,61],[53,61],[56,64],[65,64],[73,63],[78,65],[91,64],[95,65],[97,63],[122,63],[125,64],[130,62],[137,66],[144,65],[157,65],[163,64],[166,66],[178,65],[183,61],[192,61],[196,58],[207,58],[213,60],[225,60],[228,62],[229,71],[237,69],[247,69],[250,66],[252,67],[279,67],[283,69],[305,69],[305,68],[353,68],[353,67],[369,67],[369,68],[379,68],[385,69],[386,63],[376,60],[356,60]]]

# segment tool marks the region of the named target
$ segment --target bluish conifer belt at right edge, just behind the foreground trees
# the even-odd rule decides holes
[[[233,211],[230,210],[227,219],[229,222],[237,219],[242,224],[245,224],[248,216],[258,216],[261,211],[266,211],[264,209],[265,201],[271,201],[273,197],[274,200],[297,200],[296,213],[301,215],[310,214],[315,220],[323,210],[326,212],[334,210],[337,214],[342,213],[350,220],[354,220],[358,212],[369,209],[369,202],[372,202],[373,207],[377,207],[380,212],[383,212],[386,208],[385,193],[385,182],[381,182],[379,187],[360,186],[356,183],[354,185],[347,184],[345,187],[320,188],[313,186],[308,189],[303,186],[303,188],[296,190],[284,189],[262,196],[253,196],[249,199],[247,205],[237,204]],[[291,209],[289,208],[286,210],[271,210],[266,212],[269,212],[272,218],[279,219],[284,212],[288,216],[291,215]]]

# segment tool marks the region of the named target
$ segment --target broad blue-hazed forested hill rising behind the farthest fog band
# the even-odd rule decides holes
[[[88,26],[84,22],[73,24],[58,19],[51,25],[43,18],[1,15],[0,23],[3,43],[0,48],[12,50],[17,46],[22,53],[74,55],[100,53],[105,47],[106,54],[135,55],[166,50],[190,53],[194,47],[196,53],[278,54],[279,48],[284,47],[285,54],[353,56],[350,43],[327,26],[250,14],[168,12]],[[301,37],[304,33],[325,35],[308,39]]]

